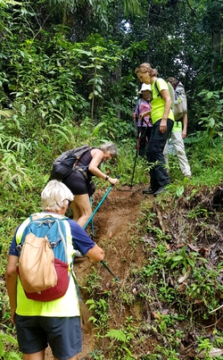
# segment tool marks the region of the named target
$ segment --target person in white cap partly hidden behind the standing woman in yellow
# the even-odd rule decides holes
[[[140,119],[140,113],[151,112],[150,104],[150,95],[151,95],[151,85],[143,84],[142,88],[139,91],[139,94],[142,96],[136,102],[135,112],[132,114],[132,118],[136,121],[137,126],[137,136],[140,136],[139,142],[139,151],[140,156],[145,156],[145,147],[149,142],[151,130],[152,130],[152,121],[150,115],[146,115],[144,118]]]

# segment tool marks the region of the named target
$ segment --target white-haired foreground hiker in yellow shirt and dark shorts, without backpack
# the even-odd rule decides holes
[[[41,194],[42,213],[45,215],[64,215],[73,194],[61,181],[51,180]],[[27,222],[27,221],[26,221]],[[90,239],[87,232],[77,222],[66,218],[68,264],[71,264],[72,253],[79,250],[91,261],[103,260],[103,249]],[[12,239],[9,259],[5,272],[12,323],[16,325],[20,351],[25,360],[44,360],[45,348],[49,344],[54,359],[77,360],[81,352],[81,326],[78,306],[77,285],[70,276],[69,288],[63,297],[57,300],[41,302],[26,297],[17,276],[18,251],[16,234],[22,237],[22,224],[17,228]],[[69,233],[71,231],[71,236]],[[20,234],[21,232],[21,234]]]

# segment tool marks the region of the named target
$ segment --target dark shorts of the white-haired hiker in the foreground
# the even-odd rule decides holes
[[[48,344],[54,357],[67,360],[81,352],[80,320],[75,317],[21,316],[16,314],[16,331],[23,354],[44,350]]]

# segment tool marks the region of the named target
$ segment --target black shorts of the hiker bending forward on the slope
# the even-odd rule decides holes
[[[62,180],[73,195],[88,194],[87,191],[87,180],[85,179],[82,172],[71,172],[67,178]]]

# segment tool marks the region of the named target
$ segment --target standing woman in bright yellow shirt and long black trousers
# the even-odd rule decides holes
[[[141,82],[151,85],[152,90],[151,118],[153,128],[146,155],[148,163],[153,164],[153,166],[150,169],[150,187],[145,188],[143,193],[153,194],[156,197],[169,184],[163,149],[174,124],[174,114],[171,110],[168,84],[165,80],[157,78],[157,71],[151,67],[150,63],[142,63],[135,72]],[[148,113],[142,113],[141,116],[144,117]]]

